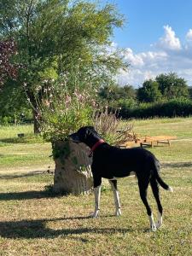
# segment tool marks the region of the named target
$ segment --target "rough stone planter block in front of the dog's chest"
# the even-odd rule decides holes
[[[54,191],[73,195],[89,194],[93,187],[92,159],[84,144],[57,141],[52,144],[55,158]]]

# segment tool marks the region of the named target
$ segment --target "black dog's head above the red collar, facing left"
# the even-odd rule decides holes
[[[73,140],[73,143],[85,143],[88,146],[92,146],[101,137],[98,135],[93,126],[84,126],[79,131],[69,135]]]

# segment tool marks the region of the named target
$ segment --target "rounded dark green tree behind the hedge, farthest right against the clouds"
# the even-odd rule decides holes
[[[176,73],[160,74],[156,77],[160,92],[166,99],[189,97],[187,82],[179,78]]]

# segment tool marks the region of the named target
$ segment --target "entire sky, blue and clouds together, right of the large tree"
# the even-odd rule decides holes
[[[160,73],[175,72],[192,85],[192,0],[103,0],[125,17],[114,30],[112,48],[125,49],[128,72],[119,84],[142,86]]]

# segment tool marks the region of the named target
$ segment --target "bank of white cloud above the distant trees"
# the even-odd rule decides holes
[[[175,72],[192,85],[192,29],[183,44],[171,26],[164,26],[165,34],[146,52],[135,53],[127,48],[122,55],[131,65],[128,72],[119,73],[119,84],[141,86],[146,79],[154,79],[160,73]]]

